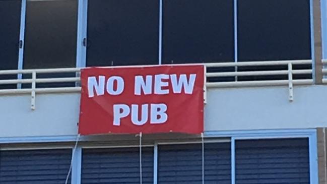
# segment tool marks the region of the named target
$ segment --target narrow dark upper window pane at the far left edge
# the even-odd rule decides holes
[[[21,1],[0,0],[0,70],[18,69],[18,43]],[[17,79],[17,75],[0,75],[0,80]],[[16,88],[16,84],[0,85],[0,89]]]

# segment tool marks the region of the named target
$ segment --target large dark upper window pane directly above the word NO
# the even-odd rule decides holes
[[[88,2],[87,66],[158,64],[156,0]]]

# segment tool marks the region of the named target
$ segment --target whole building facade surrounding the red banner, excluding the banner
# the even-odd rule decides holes
[[[327,183],[324,0],[0,0],[0,24],[1,184]],[[82,68],[167,64],[206,68],[202,135],[78,134]]]

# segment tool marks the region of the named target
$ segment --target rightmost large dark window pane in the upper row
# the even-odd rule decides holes
[[[238,60],[310,59],[309,0],[238,1]]]

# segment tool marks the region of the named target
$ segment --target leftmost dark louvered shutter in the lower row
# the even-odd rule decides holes
[[[64,183],[71,158],[71,149],[0,151],[0,183]]]

